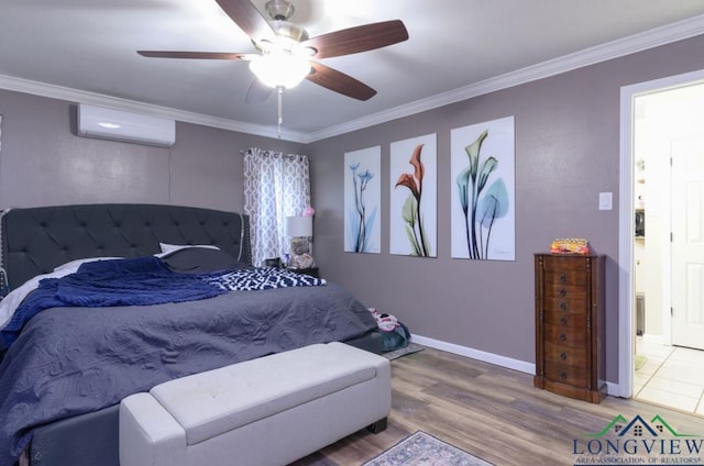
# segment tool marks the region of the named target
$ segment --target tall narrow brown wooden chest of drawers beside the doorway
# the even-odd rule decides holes
[[[536,254],[536,387],[592,403],[605,397],[604,262]]]

